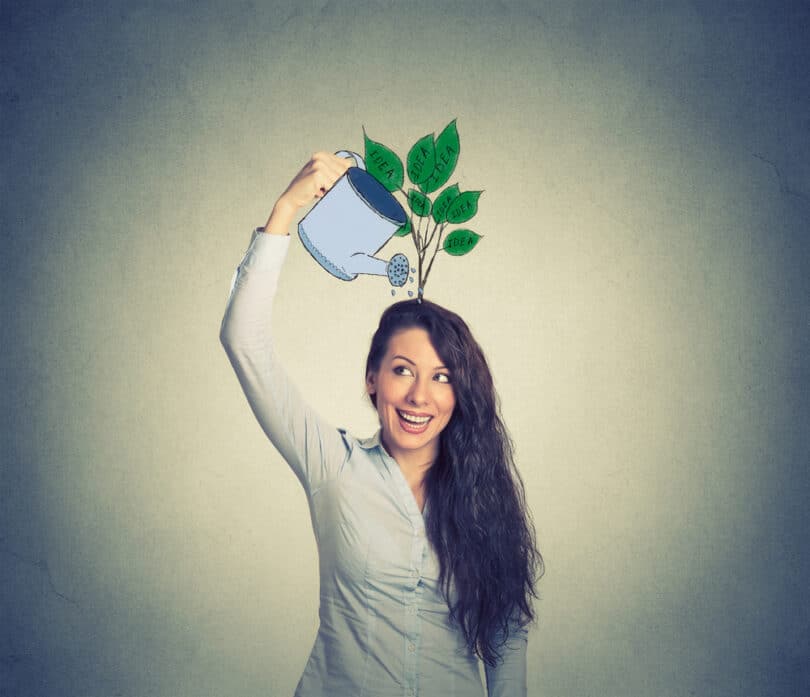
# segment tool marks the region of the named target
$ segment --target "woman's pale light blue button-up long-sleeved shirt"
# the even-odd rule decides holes
[[[275,360],[271,307],[290,238],[253,233],[221,340],[259,423],[306,492],[320,626],[296,697],[482,697],[478,659],[449,621],[425,522],[379,431],[325,423]],[[490,697],[526,695],[526,632],[487,667]]]

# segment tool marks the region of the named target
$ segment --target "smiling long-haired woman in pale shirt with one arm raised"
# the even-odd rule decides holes
[[[481,349],[427,300],[392,305],[366,363],[380,430],[324,423],[275,359],[273,295],[296,212],[351,161],[316,153],[253,234],[221,340],[270,440],[300,479],[318,542],[320,627],[297,697],[526,694],[526,626],[542,567]]]

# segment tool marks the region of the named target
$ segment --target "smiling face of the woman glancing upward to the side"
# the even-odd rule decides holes
[[[456,406],[451,380],[427,331],[413,327],[391,336],[366,389],[377,400],[383,445],[400,464],[436,459],[439,434]]]

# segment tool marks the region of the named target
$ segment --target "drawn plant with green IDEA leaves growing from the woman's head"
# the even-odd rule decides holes
[[[448,232],[448,227],[469,221],[478,212],[478,199],[483,192],[461,191],[458,184],[445,186],[456,168],[460,150],[455,119],[438,138],[429,133],[417,140],[408,151],[405,166],[390,148],[371,140],[365,129],[363,136],[368,172],[391,193],[402,194],[407,202],[408,220],[396,235],[410,235],[416,247],[421,296],[439,251],[463,256],[481,239],[481,235],[468,228]],[[413,185],[407,191],[404,189],[406,172]],[[431,198],[433,194],[436,195]]]

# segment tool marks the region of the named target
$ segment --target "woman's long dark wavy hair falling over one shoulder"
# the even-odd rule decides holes
[[[414,327],[430,336],[456,399],[425,475],[427,535],[450,619],[470,650],[495,665],[514,626],[534,620],[543,559],[492,374],[464,320],[428,300],[394,303],[371,340],[366,375],[379,370],[391,336]]]

